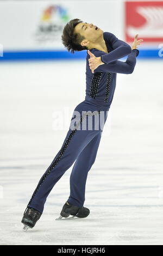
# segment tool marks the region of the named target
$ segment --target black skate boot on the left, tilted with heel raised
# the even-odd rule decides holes
[[[24,224],[24,231],[28,228],[33,228],[41,216],[40,212],[33,208],[27,208],[26,210],[24,211],[24,216],[21,221]]]

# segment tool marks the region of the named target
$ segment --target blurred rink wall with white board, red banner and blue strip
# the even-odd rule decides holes
[[[61,42],[64,26],[81,19],[129,44],[143,38],[139,58],[159,58],[163,46],[163,1],[0,1],[0,61],[85,58]],[[2,54],[3,52],[3,54]],[[2,56],[3,55],[3,56]]]

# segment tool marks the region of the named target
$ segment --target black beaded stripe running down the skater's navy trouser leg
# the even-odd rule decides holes
[[[60,153],[57,157],[57,159],[51,164],[51,166],[49,166],[49,168],[47,169],[47,171],[45,172],[45,174],[42,176],[42,179],[39,181],[39,184],[37,185],[33,195],[32,195],[32,198],[30,199],[27,207],[30,206],[30,204],[32,203],[32,200],[35,196],[35,194],[37,193],[37,191],[39,190],[40,186],[42,185],[43,181],[47,178],[47,175],[49,173],[51,173],[52,169],[56,166],[56,164],[59,162],[61,156],[64,154],[67,146],[68,146],[68,143],[70,143],[74,133],[77,131],[77,128],[78,126],[82,123],[82,121],[86,118],[86,115],[96,115],[96,114],[100,114],[100,112],[102,111],[101,110],[98,110],[98,111],[94,111],[93,113],[85,113],[82,115],[82,117],[80,118],[80,121],[78,122],[78,124],[74,127],[74,129],[71,131],[70,135],[68,136],[68,138],[66,139],[66,142],[64,143],[63,147],[60,149]]]

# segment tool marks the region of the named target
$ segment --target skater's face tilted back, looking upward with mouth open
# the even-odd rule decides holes
[[[92,23],[78,23],[78,25],[74,28],[74,33],[79,33],[84,36],[85,39],[81,42],[82,46],[88,46],[89,44],[93,44],[101,38],[103,35],[102,29],[96,29],[96,25]]]

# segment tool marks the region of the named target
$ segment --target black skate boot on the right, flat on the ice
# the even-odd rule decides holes
[[[78,206],[72,205],[66,202],[61,210],[60,217],[56,220],[62,220],[63,218],[67,218],[67,220],[72,219],[74,217],[85,218],[90,214],[90,210],[86,207],[79,208]],[[72,215],[73,217],[69,217]],[[64,219],[64,220],[65,220]]]

